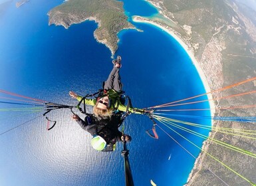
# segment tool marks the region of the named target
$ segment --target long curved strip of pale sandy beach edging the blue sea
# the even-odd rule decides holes
[[[166,28],[154,21],[151,21],[149,19],[144,19],[143,17],[139,17],[139,16],[134,16],[132,17],[132,21],[136,22],[136,23],[148,23],[150,25],[154,25],[155,27],[158,27],[160,29],[162,29],[162,31],[165,31],[166,33],[168,33],[170,36],[172,36],[176,41],[178,41],[178,43],[180,43],[180,45],[182,46],[182,48],[184,48],[184,50],[186,50],[188,56],[190,57],[190,59],[192,60],[193,65],[195,66],[197,73],[199,74],[199,77],[201,78],[201,81],[203,83],[203,87],[205,88],[205,92],[211,92],[211,88],[209,87],[209,84],[207,82],[207,78],[203,72],[203,70],[200,67],[200,64],[197,60],[197,58],[195,58],[195,54],[192,50],[192,48],[189,48],[188,45],[186,45],[186,43],[180,38],[178,37],[178,35],[176,35],[176,33],[174,31],[172,31],[172,29]],[[207,98],[208,100],[212,100],[212,94],[207,94]],[[209,107],[210,107],[210,113],[211,113],[211,117],[213,117],[215,115],[215,104],[213,101],[209,101]],[[213,126],[213,120],[211,120],[211,126]],[[209,133],[209,136],[211,135],[211,132]],[[193,180],[193,171],[195,171],[197,168],[200,169],[201,167],[201,161],[204,158],[204,151],[207,151],[207,140],[203,141],[203,145],[201,147],[201,152],[199,153],[198,157],[195,159],[195,163],[193,164],[193,168],[190,171],[190,175],[187,179],[187,183],[185,183],[184,185],[188,185],[188,183],[190,181]],[[195,173],[196,174],[196,173]]]

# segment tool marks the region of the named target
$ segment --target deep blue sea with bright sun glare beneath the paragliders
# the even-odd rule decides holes
[[[49,26],[47,12],[61,3],[31,0],[17,9],[13,1],[0,13],[0,89],[76,105],[68,96],[69,90],[84,95],[101,88],[112,68],[111,52],[94,39],[97,25],[93,21],[69,29]],[[124,9],[129,20],[132,15],[157,13],[142,0],[124,0]],[[134,107],[164,104],[205,92],[195,66],[175,39],[152,25],[133,24],[143,32],[120,32],[116,55],[122,56],[123,89]],[[0,96],[5,100],[4,94]],[[197,107],[209,108],[209,104]],[[0,108],[15,106],[1,104]],[[1,134],[42,113],[0,114]],[[171,114],[209,116],[209,112]],[[40,117],[1,135],[0,185],[125,185],[122,144],[112,153],[94,151],[90,134],[72,121],[71,115],[70,110],[51,113],[49,117],[57,120],[57,126],[49,132],[47,121]],[[182,120],[211,124],[209,120]],[[159,140],[148,137],[145,131],[152,128],[152,122],[146,116],[131,115],[125,126],[125,132],[132,136],[128,149],[135,185],[150,185],[150,179],[157,185],[186,183],[195,161],[190,154],[158,128]],[[199,154],[199,149],[184,138],[164,129],[195,157]],[[192,134],[177,132],[199,146],[203,142]],[[208,134],[200,129],[197,132]]]

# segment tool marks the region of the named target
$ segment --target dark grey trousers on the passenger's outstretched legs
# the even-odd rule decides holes
[[[114,89],[116,92],[120,92],[122,90],[121,77],[119,74],[120,68],[114,68],[110,72],[108,79],[105,81],[104,89]]]

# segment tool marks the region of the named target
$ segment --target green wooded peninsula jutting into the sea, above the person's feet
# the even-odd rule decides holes
[[[117,33],[122,29],[134,29],[127,19],[123,3],[115,0],[70,0],[49,11],[49,25],[68,28],[73,23],[96,21],[98,29],[94,32],[94,37],[108,46],[112,54],[118,48]]]

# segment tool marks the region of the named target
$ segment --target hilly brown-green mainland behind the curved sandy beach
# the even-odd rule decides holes
[[[184,42],[192,48],[201,66],[211,90],[217,90],[229,84],[240,82],[256,76],[256,12],[243,1],[203,1],[203,0],[150,0],[158,3],[164,15],[176,22],[176,31]],[[164,27],[164,23],[159,23]],[[186,29],[187,28],[187,29]],[[190,29],[188,29],[190,28]],[[256,83],[249,82],[219,94],[213,98],[239,94],[255,90]],[[215,101],[221,108],[229,106],[255,105],[255,94]],[[255,108],[218,110],[216,116],[255,116]],[[255,124],[240,122],[214,122],[213,126],[222,128],[239,128],[256,130]],[[242,149],[256,152],[255,140],[239,136],[230,136],[219,132],[212,132],[211,138],[235,145]],[[207,141],[204,149],[229,165],[232,169],[256,182],[256,161],[230,149],[215,145]],[[188,185],[225,185],[211,171],[228,185],[251,185],[223,167],[211,157],[201,153],[195,164]]]

